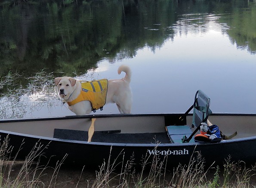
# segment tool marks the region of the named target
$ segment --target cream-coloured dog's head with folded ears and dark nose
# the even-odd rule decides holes
[[[56,86],[58,86],[59,96],[63,99],[68,99],[74,92],[76,79],[71,77],[57,77],[54,79]]]

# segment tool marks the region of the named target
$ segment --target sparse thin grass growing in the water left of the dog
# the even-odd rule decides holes
[[[26,85],[19,83],[21,75],[9,73],[0,79],[0,119],[23,118],[41,108],[49,111],[62,105],[54,85],[52,73],[44,70],[32,77],[23,78]],[[17,81],[18,80],[18,81]]]

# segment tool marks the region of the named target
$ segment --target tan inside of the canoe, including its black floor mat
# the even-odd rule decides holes
[[[191,125],[191,114],[182,123],[177,123],[180,116],[181,114],[99,115],[96,116],[95,133],[92,141],[171,143],[165,126]],[[49,138],[86,141],[92,117],[94,116],[1,120],[0,130]],[[234,139],[256,136],[256,115],[212,114],[209,120],[218,125],[222,133],[227,136],[237,131],[237,136]]]

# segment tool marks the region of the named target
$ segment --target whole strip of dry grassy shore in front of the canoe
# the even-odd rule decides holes
[[[1,138],[3,139],[3,138]],[[135,168],[133,156],[127,163],[108,162],[94,171],[69,170],[70,175],[63,177],[68,170],[63,167],[65,157],[55,167],[40,164],[40,157],[47,146],[37,143],[25,161],[10,159],[11,146],[8,138],[1,140],[0,147],[0,187],[4,188],[249,188],[255,187],[256,166],[248,168],[243,162],[227,159],[223,166],[204,166],[200,154],[191,158],[187,165],[179,165],[173,171],[165,169],[165,162],[157,157],[142,160],[140,168]],[[49,143],[50,144],[50,143]],[[22,146],[21,146],[22,150]],[[19,152],[17,153],[17,155]],[[120,168],[120,165],[122,168]],[[72,172],[72,173],[71,173]],[[88,174],[90,175],[88,176]],[[92,175],[94,174],[94,175]],[[63,180],[64,179],[64,180]],[[252,182],[252,183],[251,183]],[[254,184],[254,185],[253,185]]]

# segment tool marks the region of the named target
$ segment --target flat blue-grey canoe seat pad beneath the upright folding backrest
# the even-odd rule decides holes
[[[182,137],[185,135],[189,137],[192,134],[190,127],[186,125],[180,126],[166,126],[167,134],[172,143],[181,143]],[[194,139],[191,139],[190,142],[194,142]]]

